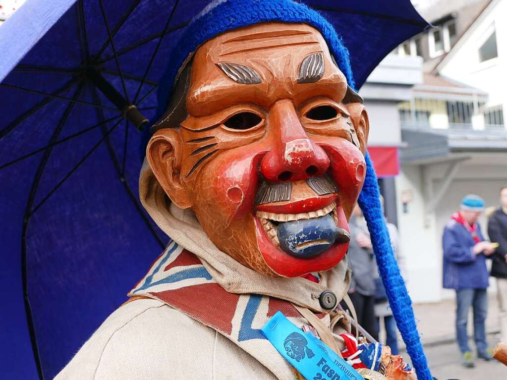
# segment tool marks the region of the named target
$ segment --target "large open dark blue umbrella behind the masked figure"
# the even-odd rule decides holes
[[[52,378],[167,238],[138,201],[142,129],[193,0],[28,0],[0,28],[0,356]],[[408,0],[308,0],[342,35],[356,87],[427,23]]]

